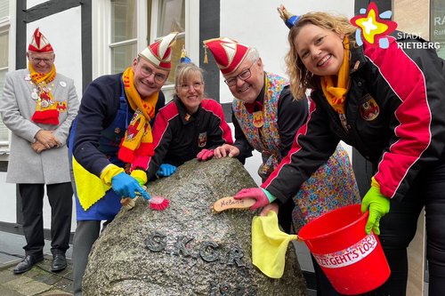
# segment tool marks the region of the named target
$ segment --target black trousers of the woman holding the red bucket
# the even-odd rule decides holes
[[[390,212],[380,220],[380,242],[391,276],[371,295],[405,296],[408,282],[407,247],[416,235],[417,219],[425,207],[428,295],[445,292],[445,155],[424,168],[401,200],[391,200]]]

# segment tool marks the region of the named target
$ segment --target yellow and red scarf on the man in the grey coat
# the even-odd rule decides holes
[[[46,74],[36,72],[30,62],[28,63],[28,68],[31,80],[36,84],[36,91],[31,93],[31,100],[37,100],[36,110],[31,120],[37,124],[58,125],[58,103],[54,101],[51,87],[48,85],[56,76],[55,66],[53,65],[51,71]]]

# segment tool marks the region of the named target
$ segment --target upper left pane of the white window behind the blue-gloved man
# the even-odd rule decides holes
[[[136,38],[136,21],[135,0],[111,0],[111,43]]]

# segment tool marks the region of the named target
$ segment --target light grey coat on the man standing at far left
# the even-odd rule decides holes
[[[31,121],[36,110],[36,100],[31,92],[36,88],[28,69],[8,73],[4,84],[4,96],[0,99],[0,114],[4,124],[12,131],[6,182],[57,184],[69,182],[69,155],[67,139],[69,126],[77,115],[79,100],[74,81],[59,73],[50,84],[53,99],[66,101],[67,110],[59,113],[59,125],[36,124]],[[53,130],[63,144],[37,154],[32,148],[34,136],[40,129]]]

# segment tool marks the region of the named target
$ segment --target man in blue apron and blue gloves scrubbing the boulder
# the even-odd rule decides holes
[[[150,196],[142,176],[127,174],[134,159],[154,153],[151,123],[165,105],[161,87],[171,68],[177,33],[150,44],[124,73],[101,76],[85,90],[69,134],[77,228],[73,245],[74,294],[82,294],[88,254],[121,208],[122,197]],[[140,177],[140,178],[138,178]],[[145,178],[145,180],[144,180]]]

